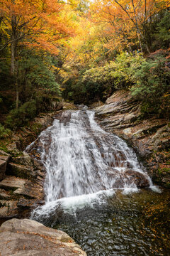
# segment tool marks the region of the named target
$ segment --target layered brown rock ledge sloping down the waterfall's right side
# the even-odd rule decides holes
[[[103,129],[125,139],[146,164],[159,185],[170,187],[170,123],[156,116],[143,118],[141,105],[130,92],[119,90],[96,107],[96,120]]]

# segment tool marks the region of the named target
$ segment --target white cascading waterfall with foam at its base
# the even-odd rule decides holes
[[[125,171],[143,174],[152,186],[135,152],[117,136],[105,132],[89,110],[65,111],[40,134],[45,165],[45,206],[33,215],[47,215],[58,205],[65,210],[96,201],[104,203],[115,190],[138,191]]]

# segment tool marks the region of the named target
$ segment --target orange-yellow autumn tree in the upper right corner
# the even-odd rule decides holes
[[[91,10],[94,22],[105,24],[105,33],[111,37],[108,42],[110,48],[122,45],[132,51],[131,46],[139,43],[140,51],[143,52],[145,48],[149,53],[147,23],[153,15],[168,7],[168,1],[162,0],[102,0],[94,1]]]

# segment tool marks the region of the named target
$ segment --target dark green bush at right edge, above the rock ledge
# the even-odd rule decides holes
[[[134,70],[132,96],[142,101],[142,113],[169,117],[170,68],[165,50],[152,53],[140,68]]]

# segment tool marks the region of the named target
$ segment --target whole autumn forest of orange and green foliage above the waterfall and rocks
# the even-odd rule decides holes
[[[120,89],[169,117],[169,42],[166,0],[0,1],[0,129]]]

